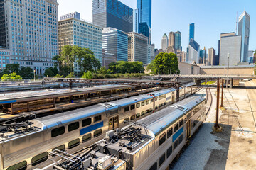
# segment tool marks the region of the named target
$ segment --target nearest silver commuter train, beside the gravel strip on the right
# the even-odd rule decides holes
[[[191,96],[161,111],[106,132],[105,138],[44,170],[165,170],[206,119],[206,99]],[[53,151],[60,155],[63,152]],[[63,154],[65,157],[65,152]]]

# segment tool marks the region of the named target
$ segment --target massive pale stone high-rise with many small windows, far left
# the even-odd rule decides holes
[[[0,1],[0,46],[11,50],[11,63],[43,74],[58,55],[57,0]]]

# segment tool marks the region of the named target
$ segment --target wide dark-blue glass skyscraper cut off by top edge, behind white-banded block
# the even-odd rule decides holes
[[[133,10],[118,0],[93,0],[92,21],[102,28],[112,27],[124,32],[133,30]]]

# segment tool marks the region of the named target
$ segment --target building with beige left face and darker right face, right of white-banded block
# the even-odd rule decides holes
[[[128,35],[128,61],[147,63],[148,39],[139,33],[127,33]]]

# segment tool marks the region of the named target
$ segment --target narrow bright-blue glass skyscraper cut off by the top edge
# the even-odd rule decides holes
[[[148,38],[149,44],[151,44],[151,0],[137,0],[137,10],[139,13],[138,30],[137,33],[142,33]]]

